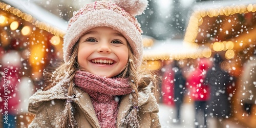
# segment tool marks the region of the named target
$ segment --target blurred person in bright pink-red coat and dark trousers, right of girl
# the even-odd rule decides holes
[[[198,67],[189,75],[187,82],[195,104],[195,127],[207,127],[206,103],[209,99],[209,87],[203,81],[209,66],[206,59],[199,59],[197,62]]]

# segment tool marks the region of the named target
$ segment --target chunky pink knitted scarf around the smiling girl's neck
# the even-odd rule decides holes
[[[116,127],[118,99],[115,97],[132,92],[129,79],[106,78],[78,70],[74,83],[91,96],[100,126]]]

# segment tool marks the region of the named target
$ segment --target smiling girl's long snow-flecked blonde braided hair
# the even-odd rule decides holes
[[[47,79],[46,88],[44,90],[49,90],[53,86],[55,86],[60,80],[63,78],[68,77],[69,80],[67,80],[63,87],[68,89],[68,91],[65,93],[67,94],[67,97],[72,97],[73,95],[73,88],[74,83],[72,82],[75,76],[75,71],[79,69],[79,65],[77,63],[77,55],[78,55],[78,46],[79,44],[76,43],[73,47],[72,54],[70,56],[70,59],[68,62],[62,62],[62,64],[54,71],[54,72],[47,72],[45,74],[45,78]],[[138,107],[138,90],[145,88],[150,84],[152,81],[156,81],[155,75],[150,70],[141,69],[140,67],[136,67],[134,64],[134,60],[136,57],[132,53],[131,47],[128,46],[129,51],[129,60],[126,65],[126,67],[122,70],[120,74],[118,74],[116,77],[121,78],[127,78],[129,77],[131,82],[131,88],[133,88],[134,91],[132,91],[132,103],[133,106]],[[144,63],[142,63],[143,65]],[[142,71],[143,70],[143,71]],[[68,76],[67,76],[68,74]],[[154,87],[156,87],[157,82],[153,82]],[[137,117],[137,107],[134,107],[135,111],[133,111]],[[65,104],[65,110],[61,117],[60,126],[61,127],[77,127],[76,120],[74,118],[74,109],[75,104],[74,102],[66,101]],[[132,111],[132,110],[131,110]]]

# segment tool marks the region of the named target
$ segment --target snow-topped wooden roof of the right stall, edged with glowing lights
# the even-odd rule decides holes
[[[194,7],[184,36],[191,47],[239,50],[255,44],[256,1],[206,2]]]

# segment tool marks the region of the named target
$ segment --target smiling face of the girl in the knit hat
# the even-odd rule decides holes
[[[92,74],[114,77],[127,65],[127,41],[112,28],[93,28],[81,36],[78,43],[79,67]]]

